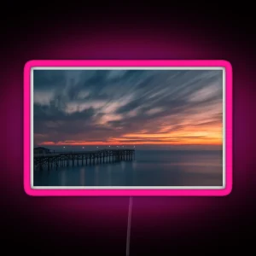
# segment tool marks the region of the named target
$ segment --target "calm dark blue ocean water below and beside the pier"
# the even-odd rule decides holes
[[[33,173],[34,186],[221,186],[222,150],[136,150],[135,160]]]

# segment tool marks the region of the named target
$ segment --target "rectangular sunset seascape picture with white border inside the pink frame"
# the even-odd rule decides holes
[[[32,70],[32,188],[224,186],[221,67]]]

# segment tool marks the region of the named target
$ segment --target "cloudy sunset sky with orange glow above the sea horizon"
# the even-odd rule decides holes
[[[222,145],[221,70],[35,70],[34,145]]]

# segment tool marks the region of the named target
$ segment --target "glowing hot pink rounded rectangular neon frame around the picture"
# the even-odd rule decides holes
[[[224,189],[32,189],[30,175],[30,80],[32,67],[223,67],[226,79]],[[228,61],[28,61],[24,67],[24,189],[34,196],[223,196],[232,190],[232,67]]]

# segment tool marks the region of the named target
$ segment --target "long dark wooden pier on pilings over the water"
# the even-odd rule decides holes
[[[134,160],[135,149],[102,149],[97,151],[60,152],[34,155],[34,169],[50,170],[64,166],[87,166]]]

